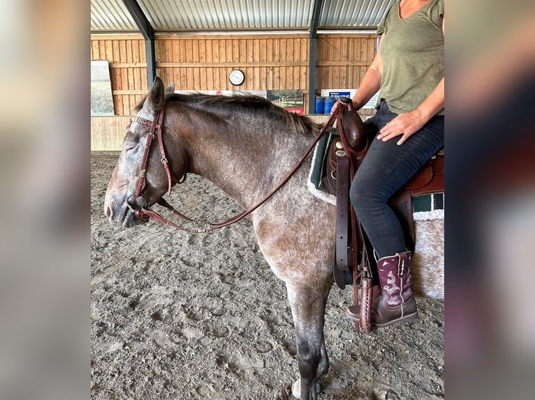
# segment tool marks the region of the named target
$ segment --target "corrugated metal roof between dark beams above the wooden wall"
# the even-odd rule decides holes
[[[325,0],[318,29],[366,29],[395,0]],[[138,0],[154,31],[307,30],[314,0]],[[91,0],[91,31],[138,31],[122,0]]]

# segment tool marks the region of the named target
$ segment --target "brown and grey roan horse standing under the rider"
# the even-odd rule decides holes
[[[244,208],[254,207],[286,178],[319,132],[309,118],[290,114],[263,98],[172,92],[156,78],[136,109],[105,195],[105,215],[110,222],[125,228],[146,222],[147,214],[136,217],[136,212],[141,208],[149,212],[150,206],[186,173],[211,180]],[[165,113],[159,113],[163,108]],[[147,134],[154,130],[159,116],[167,157],[163,162],[157,139],[144,151],[151,136]],[[140,173],[145,153],[146,171]],[[328,372],[323,323],[335,254],[335,206],[307,189],[311,158],[307,157],[288,183],[251,213],[260,249],[288,291],[301,399],[316,399],[319,378]],[[167,161],[168,172],[162,166]],[[136,191],[140,175],[144,182]],[[442,231],[438,233],[443,236]],[[436,231],[428,236],[431,248],[443,248],[444,239],[437,238]],[[435,266],[418,266],[415,257],[415,272],[420,271],[413,277],[413,288],[420,295],[440,298],[443,287],[436,286],[443,285],[440,269],[444,260],[434,257],[430,261]],[[294,384],[297,392],[298,382]]]

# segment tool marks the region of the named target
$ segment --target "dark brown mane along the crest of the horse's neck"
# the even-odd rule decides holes
[[[147,95],[135,106],[135,112],[142,108],[146,98]],[[317,136],[321,128],[321,125],[312,122],[307,116],[288,112],[258,95],[228,96],[207,95],[204,93],[166,93],[165,100],[166,102],[180,102],[206,111],[231,111],[233,114],[254,114],[268,121],[283,121],[293,132],[298,134],[314,134],[314,136]]]

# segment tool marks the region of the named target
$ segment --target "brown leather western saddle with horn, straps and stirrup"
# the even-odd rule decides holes
[[[337,198],[336,256],[333,266],[335,282],[345,289],[346,274],[352,272],[353,303],[359,304],[360,321],[355,330],[360,333],[372,332],[370,310],[372,305],[374,274],[376,263],[373,248],[362,230],[355,210],[349,201],[349,185],[362,163],[369,144],[376,137],[377,128],[372,120],[362,122],[349,98],[341,98],[344,108],[337,115],[339,137],[330,146],[327,176],[330,190]],[[420,194],[444,192],[444,148],[421,167],[416,174],[390,199],[390,206],[400,218],[404,228],[407,249],[413,251],[415,232],[413,227],[412,197]],[[360,325],[360,327],[359,327]]]

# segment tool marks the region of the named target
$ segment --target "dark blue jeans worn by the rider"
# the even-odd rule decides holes
[[[373,118],[381,130],[396,116],[382,101]],[[398,146],[400,138],[382,141],[375,135],[349,192],[351,204],[379,258],[406,250],[402,225],[388,206],[388,199],[444,146],[444,116],[434,116]]]

